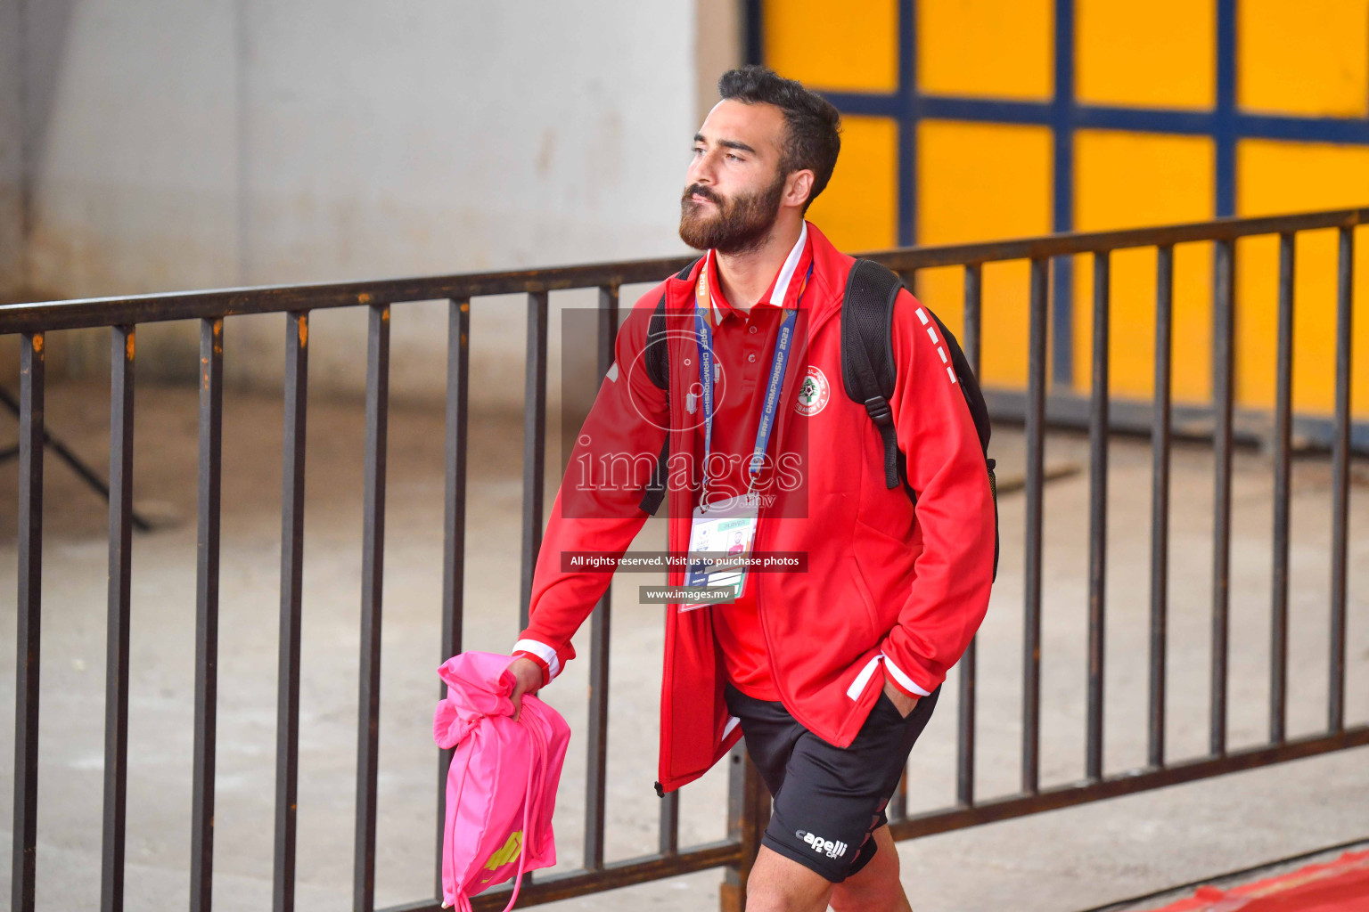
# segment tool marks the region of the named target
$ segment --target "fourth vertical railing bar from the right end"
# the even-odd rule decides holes
[[[1173,365],[1175,249],[1155,258],[1155,403],[1150,488],[1150,733],[1151,767],[1165,764],[1165,673],[1169,622],[1169,457]]]

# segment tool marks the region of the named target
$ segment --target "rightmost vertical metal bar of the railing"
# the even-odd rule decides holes
[[[1340,230],[1336,287],[1336,439],[1331,448],[1331,673],[1327,727],[1346,727],[1346,573],[1350,540],[1350,357],[1354,317],[1354,228]]]

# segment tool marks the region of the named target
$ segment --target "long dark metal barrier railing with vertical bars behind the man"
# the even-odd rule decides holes
[[[1346,209],[1264,219],[1221,219],[1198,224],[1068,234],[1020,241],[905,249],[873,254],[910,282],[917,269],[965,267],[964,349],[977,371],[980,351],[982,268],[984,263],[1031,261],[1028,381],[1014,417],[1025,424],[1025,643],[1023,680],[1021,790],[980,801],[975,796],[975,680],[972,644],[960,667],[958,779],[953,807],[909,816],[906,782],[890,808],[895,838],[909,838],[1012,816],[1114,797],[1203,777],[1369,744],[1369,725],[1347,726],[1346,572],[1348,529],[1348,465],[1351,447],[1350,357],[1354,227],[1369,224],[1369,209]],[[1339,230],[1339,291],[1336,323],[1336,399],[1329,427],[1332,451],[1332,587],[1328,725],[1321,734],[1285,737],[1288,629],[1288,502],[1290,435],[1292,427],[1292,276],[1294,239],[1299,231]],[[1233,299],[1232,264],[1236,238],[1280,237],[1277,394],[1275,417],[1275,554],[1272,686],[1269,742],[1227,749],[1228,581],[1233,435]],[[1216,243],[1213,446],[1216,451],[1212,715],[1209,755],[1168,763],[1165,759],[1165,625],[1169,458],[1173,440],[1170,403],[1173,246]],[[1125,247],[1158,249],[1155,320],[1155,392],[1151,420],[1154,447],[1150,725],[1149,763],[1142,770],[1103,775],[1103,619],[1106,578],[1108,433],[1114,427],[1109,399],[1109,256]],[[1094,256],[1092,390],[1090,429],[1090,573],[1086,779],[1040,788],[1040,618],[1043,443],[1047,423],[1046,335],[1047,265],[1051,257]],[[324,308],[368,309],[364,462],[364,548],[361,611],[361,675],[357,719],[357,805],[353,908],[374,909],[376,757],[379,718],[381,592],[385,544],[386,428],[389,406],[390,308],[408,301],[448,299],[449,361],[445,457],[445,561],[442,585],[441,658],[461,651],[465,458],[470,395],[470,299],[478,295],[527,295],[527,368],[523,440],[522,614],[526,622],[533,567],[543,524],[542,481],[546,444],[548,295],[565,289],[598,289],[598,369],[608,371],[617,330],[619,289],[656,282],[678,271],[686,258],[664,258],[554,269],[486,272],[435,278],[282,286],[131,298],[100,298],[0,306],[0,334],[21,334],[19,392],[19,540],[18,540],[18,669],[14,779],[12,908],[34,908],[38,775],[38,693],[41,629],[44,339],[45,332],[110,327],[112,338],[112,403],[110,458],[110,587],[108,663],[105,682],[104,837],[101,901],[122,908],[125,811],[127,786],[130,543],[133,532],[133,373],[134,336],[140,323],[200,320],[200,459],[199,567],[196,622],[196,701],[190,909],[208,912],[214,872],[215,707],[219,606],[219,498],[222,476],[223,331],[230,317],[285,313],[285,444],[281,506],[281,639],[277,727],[274,908],[294,907],[296,793],[298,785],[300,604],[304,533],[305,394],[308,384],[309,312]],[[726,867],[723,904],[741,908],[745,878],[769,814],[760,778],[739,753],[730,757],[728,838],[697,846],[679,845],[678,793],[661,799],[657,850],[627,860],[604,857],[605,768],[608,733],[608,645],[611,600],[605,593],[593,613],[590,652],[589,763],[586,778],[585,859],[582,870],[538,876],[523,893],[527,905],[630,883]],[[450,752],[439,752],[437,803],[441,849],[444,778]],[[441,876],[437,859],[435,881]],[[478,898],[476,909],[501,908],[505,891]],[[435,898],[394,909],[437,911]]]

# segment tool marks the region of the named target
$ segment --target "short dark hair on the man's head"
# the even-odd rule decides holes
[[[842,150],[842,115],[816,92],[760,64],[724,72],[717,81],[717,94],[745,104],[772,104],[784,113],[787,129],[779,168],[782,175],[805,168],[813,172],[813,190],[804,204],[808,212],[836,167],[836,155]]]

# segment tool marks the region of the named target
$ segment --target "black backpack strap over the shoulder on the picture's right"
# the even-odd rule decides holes
[[[894,299],[904,283],[872,260],[857,260],[842,299],[842,386],[865,406],[884,442],[884,485],[901,481],[898,438],[888,397],[894,394]]]

